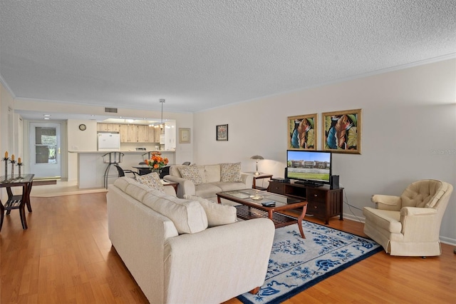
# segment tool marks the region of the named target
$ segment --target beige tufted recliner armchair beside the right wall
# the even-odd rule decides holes
[[[364,207],[364,233],[390,255],[440,255],[440,223],[453,191],[450,183],[415,181],[400,196],[375,195]]]

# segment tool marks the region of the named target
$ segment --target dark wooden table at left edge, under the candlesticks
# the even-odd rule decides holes
[[[0,188],[6,188],[6,193],[8,194],[6,203],[2,203],[0,199],[0,231],[3,226],[5,211],[6,215],[9,215],[11,210],[14,209],[19,209],[22,228],[24,230],[28,228],[25,208],[27,207],[28,212],[31,212],[30,192],[34,176],[35,174],[24,174],[24,176],[15,175],[11,177],[0,176]],[[14,195],[13,191],[11,191],[13,187],[22,187],[22,193]]]

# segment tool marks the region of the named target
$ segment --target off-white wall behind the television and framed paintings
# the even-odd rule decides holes
[[[456,186],[456,60],[368,76],[303,91],[269,96],[195,114],[195,161],[266,158],[260,171],[284,176],[287,116],[363,109],[362,154],[333,154],[333,174],[345,188],[344,216],[363,221],[363,206],[375,193],[399,195],[409,183],[435,178]],[[215,128],[229,124],[229,141],[216,141]],[[450,198],[441,239],[456,244],[456,193]]]

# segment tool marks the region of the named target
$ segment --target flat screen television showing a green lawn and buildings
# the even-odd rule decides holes
[[[330,151],[287,150],[285,178],[314,186],[328,184],[331,161]]]

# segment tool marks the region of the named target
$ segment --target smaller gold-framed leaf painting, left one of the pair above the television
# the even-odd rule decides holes
[[[289,150],[316,150],[317,114],[289,116],[286,124]]]

